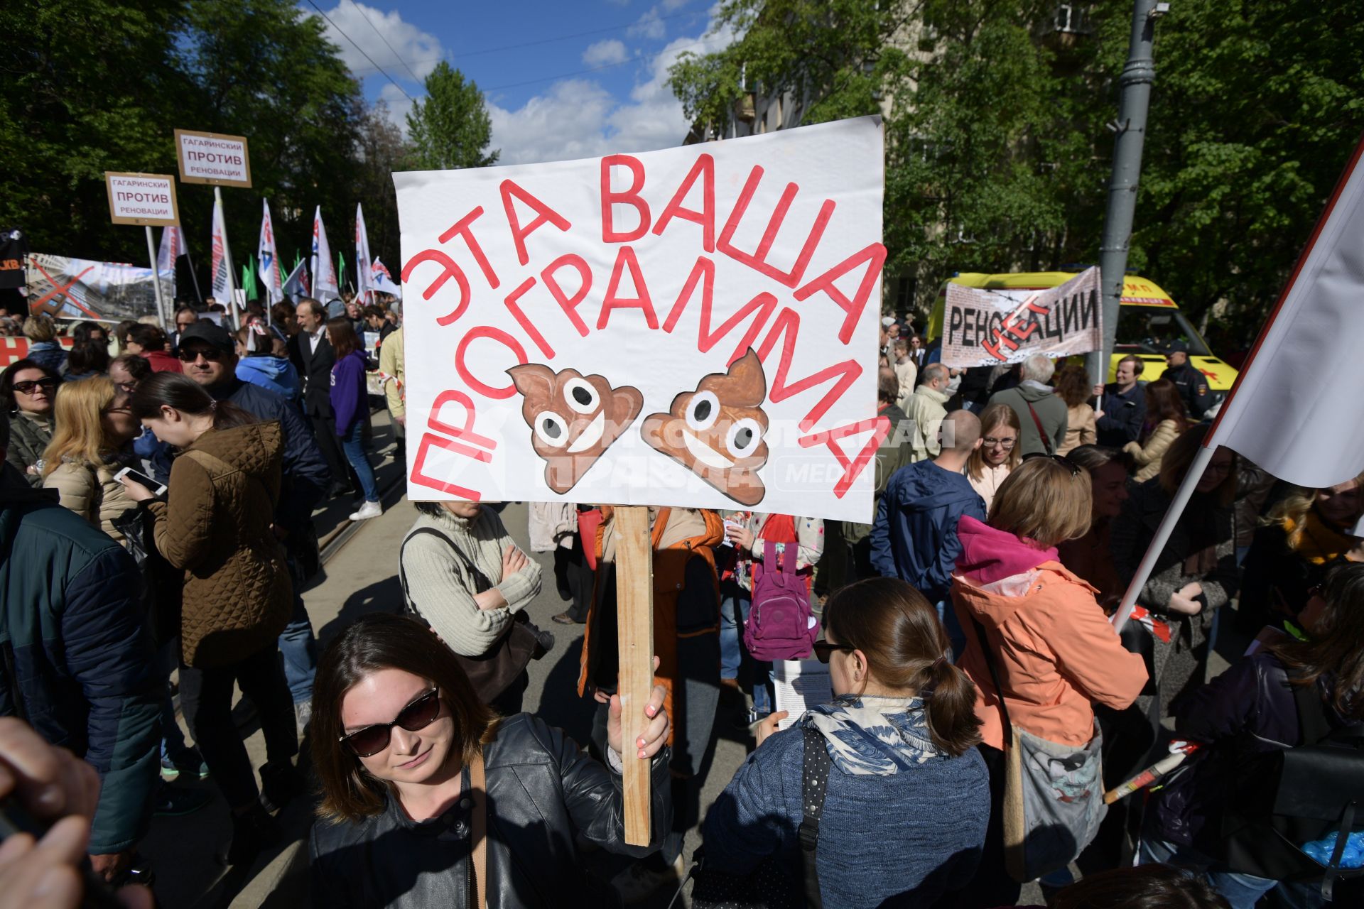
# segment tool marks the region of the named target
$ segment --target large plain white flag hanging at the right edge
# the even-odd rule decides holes
[[[1345,176],[1251,349],[1206,446],[1319,489],[1364,472],[1364,168]]]

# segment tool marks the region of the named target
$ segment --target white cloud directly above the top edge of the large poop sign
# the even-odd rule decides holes
[[[554,83],[517,110],[488,102],[498,164],[535,164],[592,158],[617,151],[652,151],[682,143],[689,123],[667,86],[668,67],[683,50],[707,53],[734,40],[728,30],[709,38],[678,37],[648,61],[647,79],[627,102],[617,101],[597,82]]]

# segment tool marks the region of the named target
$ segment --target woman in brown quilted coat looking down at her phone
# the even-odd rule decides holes
[[[124,480],[155,519],[155,545],[184,571],[180,613],[180,705],[213,780],[232,808],[228,864],[250,864],[280,837],[262,805],[281,807],[301,792],[291,758],[299,751],[293,698],[276,639],[293,611],[284,551],[273,530],[284,442],[280,424],[214,401],[179,372],[138,384],[132,416],[180,450],[169,497]],[[236,724],[232,685],[255,703],[267,762],[261,789]]]

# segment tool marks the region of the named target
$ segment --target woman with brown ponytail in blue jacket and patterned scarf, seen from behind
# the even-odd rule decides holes
[[[833,699],[776,732],[707,812],[705,867],[802,879],[797,830],[805,814],[806,729],[832,766],[816,868],[825,906],[930,905],[975,874],[989,819],[985,765],[975,750],[975,685],[951,662],[947,631],[918,590],[869,578],[824,606]]]

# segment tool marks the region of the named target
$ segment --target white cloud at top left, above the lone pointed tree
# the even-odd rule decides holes
[[[397,10],[383,12],[363,3],[344,0],[337,4],[336,10],[327,10],[327,18],[336,26],[323,20],[326,37],[341,48],[341,60],[357,79],[379,75],[379,71],[374,68],[374,64],[378,64],[390,76],[404,83],[409,94],[415,94],[413,89],[420,87],[420,80],[426,79],[445,57],[441,40],[411,22],[404,22],[402,14]],[[337,29],[345,35],[340,34]],[[360,45],[364,53],[360,53],[356,45]],[[366,55],[374,60],[374,64],[366,60]],[[383,76],[379,75],[379,78]],[[393,87],[391,83],[389,87]]]

